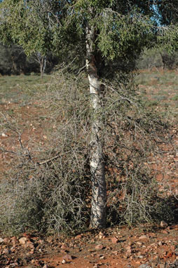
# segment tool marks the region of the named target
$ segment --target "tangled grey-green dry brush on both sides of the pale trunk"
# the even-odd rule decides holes
[[[62,71],[41,88],[50,110],[46,145],[16,152],[14,166],[0,185],[0,229],[4,232],[78,232],[90,219],[90,95],[85,74]],[[118,83],[121,81],[121,83]],[[171,206],[158,195],[149,161],[163,158],[169,127],[156,112],[142,107],[133,74],[103,81],[104,156],[108,225],[174,220]],[[164,122],[163,122],[164,121]],[[18,132],[15,123],[1,125]],[[21,142],[21,141],[20,141]],[[157,161],[157,160],[156,160]]]

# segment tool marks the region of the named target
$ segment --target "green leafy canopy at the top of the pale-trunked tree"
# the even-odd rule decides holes
[[[130,8],[131,6],[131,8]],[[36,51],[46,55],[48,51],[66,48],[74,44],[85,50],[85,26],[95,27],[95,46],[102,57],[135,58],[153,39],[152,22],[144,13],[151,8],[137,1],[84,1],[76,4],[61,2],[53,6],[50,1],[5,0],[1,4],[2,40],[13,39],[27,55]],[[77,14],[77,15],[76,15]],[[83,51],[84,52],[84,51]]]

